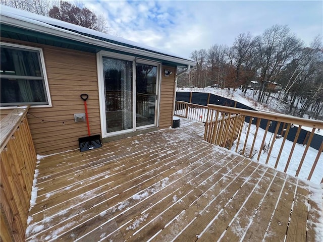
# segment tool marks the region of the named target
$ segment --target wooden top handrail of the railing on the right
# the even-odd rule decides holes
[[[214,104],[207,104],[207,107],[221,112],[231,112],[236,114],[242,114],[245,116],[275,120],[281,123],[301,125],[301,126],[315,128],[315,129],[323,129],[323,121],[320,121],[320,120],[294,117],[294,116],[289,116],[289,115],[280,114],[280,113],[271,113],[271,112],[254,111],[254,110],[247,110],[247,109],[241,109],[241,108],[235,108],[235,107],[220,106],[220,105],[214,105]]]

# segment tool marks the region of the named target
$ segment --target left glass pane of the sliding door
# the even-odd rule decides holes
[[[133,62],[103,56],[107,133],[131,129],[133,122]]]

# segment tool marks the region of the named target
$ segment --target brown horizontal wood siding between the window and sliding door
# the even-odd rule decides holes
[[[4,42],[40,47],[52,107],[30,108],[27,114],[37,154],[52,154],[78,148],[78,138],[87,136],[86,122],[75,123],[74,113],[84,113],[80,94],[87,93],[91,135],[101,133],[96,55],[2,38]],[[1,110],[1,118],[12,109]]]

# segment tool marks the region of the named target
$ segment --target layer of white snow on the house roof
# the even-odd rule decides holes
[[[105,33],[102,33],[102,32],[99,32],[99,31],[96,31],[93,29],[88,29],[88,28],[85,28],[82,26],[78,26],[75,24],[61,21],[61,20],[52,19],[49,17],[30,13],[30,12],[23,11],[20,9],[11,8],[8,6],[0,5],[0,7],[1,7],[1,16],[7,16],[7,17],[10,17],[13,19],[18,19],[18,20],[22,20],[25,22],[33,23],[33,24],[38,24],[38,25],[41,25],[41,26],[47,27],[47,28],[56,27],[62,32],[80,33],[81,35],[83,34],[87,37],[89,37],[89,36],[91,36],[93,38],[97,37],[97,39],[104,39],[107,42],[117,43],[117,44],[120,44],[123,46],[147,50],[147,51],[155,52],[158,54],[163,54],[163,55],[168,55],[168,56],[175,57],[175,58],[184,59],[185,61],[192,62],[192,65],[194,65],[194,63],[195,63],[190,58],[186,58],[186,57],[180,56],[180,55],[172,53],[172,52],[168,52],[168,51],[164,51],[164,50],[161,50],[158,48],[150,47],[150,46],[147,46],[147,45],[144,45],[141,43],[137,43],[137,42],[127,40],[124,38],[120,38],[120,37],[116,37],[116,36],[113,36],[110,34],[105,34]]]

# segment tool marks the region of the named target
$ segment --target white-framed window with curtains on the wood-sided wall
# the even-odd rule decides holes
[[[1,107],[30,104],[50,106],[42,50],[1,45]]]

